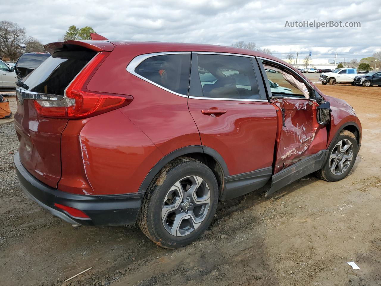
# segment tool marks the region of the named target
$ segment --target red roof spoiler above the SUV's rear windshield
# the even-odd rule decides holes
[[[101,35],[99,36],[102,37]],[[53,55],[53,53],[57,51],[92,50],[98,53],[100,51],[114,50],[114,45],[104,40],[95,40],[95,41],[67,40],[65,42],[48,43],[44,47],[45,47],[45,50],[48,51],[48,53],[50,53],[51,55]]]

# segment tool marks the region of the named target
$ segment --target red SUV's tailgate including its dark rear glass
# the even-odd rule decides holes
[[[54,101],[40,99],[64,98],[66,87],[97,51],[67,42],[54,43],[53,46],[56,50],[49,48],[52,56],[17,88],[18,109],[14,125],[20,141],[22,165],[41,182],[57,188],[61,178],[61,133],[68,119],[54,114]],[[53,106],[49,109],[52,113],[49,116],[39,113],[36,107],[40,104]]]

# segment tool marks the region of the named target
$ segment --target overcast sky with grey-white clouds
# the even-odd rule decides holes
[[[354,3],[352,3],[354,2]],[[210,43],[255,42],[284,58],[299,52],[346,61],[381,51],[379,0],[11,0],[0,20],[17,22],[42,43],[56,42],[67,27],[91,26],[108,39]],[[285,27],[286,21],[360,22],[361,27]]]

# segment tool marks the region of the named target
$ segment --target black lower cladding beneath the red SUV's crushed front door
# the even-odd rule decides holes
[[[321,150],[318,153],[281,170],[277,174],[272,175],[271,188],[266,192],[266,196],[269,196],[280,188],[287,186],[308,174],[322,169],[328,154],[328,150]]]

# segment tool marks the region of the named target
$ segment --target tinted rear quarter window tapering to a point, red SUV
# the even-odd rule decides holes
[[[135,72],[173,92],[187,95],[190,68],[190,54],[160,55],[144,60]]]

